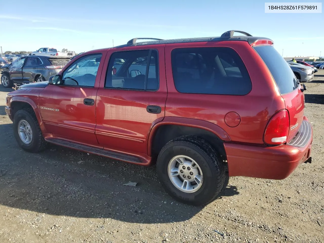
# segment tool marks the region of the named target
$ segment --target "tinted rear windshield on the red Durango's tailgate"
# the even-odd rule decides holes
[[[267,65],[282,95],[290,93],[298,87],[297,79],[289,64],[273,46],[257,46],[254,49]]]

